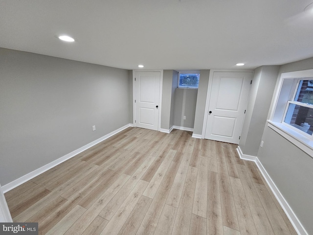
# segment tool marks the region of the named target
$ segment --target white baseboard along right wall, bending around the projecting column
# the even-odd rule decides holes
[[[296,216],[296,214],[292,211],[291,207],[289,206],[289,204],[286,201],[286,199],[284,198],[284,196],[281,194],[281,192],[279,191],[279,189],[275,185],[274,181],[270,178],[268,172],[266,171],[266,169],[264,168],[262,163],[259,161],[259,159],[255,156],[243,154],[239,146],[237,147],[237,152],[238,152],[239,157],[241,159],[247,160],[247,161],[253,161],[258,166],[264,179],[268,183],[269,188],[271,189],[271,191],[275,195],[277,201],[279,202],[280,206],[283,208],[286,215],[288,216],[288,218],[289,218],[291,224],[293,225],[295,231],[301,235],[302,234],[303,235],[309,235],[307,233],[307,231],[305,230],[305,228],[302,226],[302,224],[301,224],[300,220],[298,219],[298,217]]]

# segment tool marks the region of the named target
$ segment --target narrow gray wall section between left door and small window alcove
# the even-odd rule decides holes
[[[169,130],[174,123],[177,74],[178,72],[173,70],[163,71],[161,128],[166,130]]]

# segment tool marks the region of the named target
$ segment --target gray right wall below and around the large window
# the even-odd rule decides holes
[[[281,66],[282,72],[313,69],[313,58]],[[271,106],[273,105],[273,100]],[[313,158],[265,126],[258,159],[309,234],[313,234]]]

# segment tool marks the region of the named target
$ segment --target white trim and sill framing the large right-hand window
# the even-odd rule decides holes
[[[270,117],[268,120],[268,127],[277,132],[279,135],[302,149],[304,152],[309,154],[311,157],[313,157],[313,138],[311,135],[303,133],[301,130],[298,130],[295,127],[292,127],[291,125],[284,122],[284,118],[286,116],[286,110],[288,108],[288,103],[297,103],[297,101],[292,101],[294,95],[295,95],[295,86],[298,83],[298,79],[305,80],[306,78],[312,78],[313,77],[313,70],[305,70],[305,71],[294,71],[294,72],[285,72],[281,74],[280,80],[278,82],[277,91],[274,96],[274,102],[273,102],[273,108],[270,113]],[[284,79],[293,79],[293,86],[291,87],[291,91],[289,94],[289,100],[286,101],[287,105],[284,107],[284,112],[282,112],[279,109],[282,109],[278,105],[279,95],[282,90],[282,85]],[[291,101],[290,101],[291,100]],[[310,105],[306,105],[301,103],[301,106],[308,106],[309,108],[312,108]],[[276,110],[277,109],[277,110]],[[273,121],[275,117],[275,112],[279,113],[279,118],[276,117],[276,120]],[[280,113],[282,115],[280,115]],[[280,121],[278,120],[280,119]]]

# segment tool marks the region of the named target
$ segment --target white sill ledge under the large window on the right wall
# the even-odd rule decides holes
[[[280,122],[268,120],[268,127],[313,157],[313,140]]]

